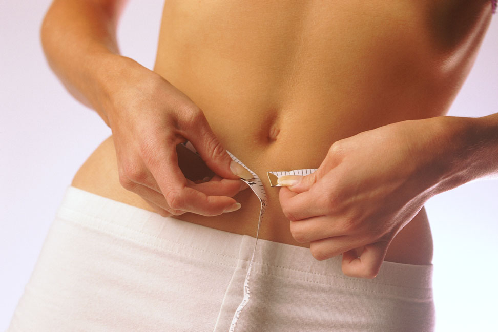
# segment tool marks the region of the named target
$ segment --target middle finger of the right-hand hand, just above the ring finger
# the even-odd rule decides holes
[[[330,216],[318,216],[291,221],[291,234],[300,243],[347,235],[339,220]]]

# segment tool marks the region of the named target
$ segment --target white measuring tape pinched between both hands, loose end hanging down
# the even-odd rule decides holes
[[[195,152],[196,154],[199,154],[197,150],[194,148],[191,142],[186,141],[183,143],[183,145],[188,148],[190,151]],[[230,157],[239,165],[242,165],[247,171],[249,171],[252,175],[252,179],[242,179],[245,183],[249,185],[249,188],[258,196],[260,202],[261,202],[261,210],[259,211],[259,221],[258,221],[258,230],[256,231],[256,242],[254,242],[254,248],[253,248],[253,255],[251,256],[251,261],[249,262],[249,267],[247,268],[247,274],[245,275],[245,280],[244,280],[244,297],[242,298],[242,302],[240,302],[237,310],[235,310],[234,317],[232,318],[232,324],[230,324],[230,330],[229,332],[234,332],[235,327],[237,326],[237,322],[239,321],[240,313],[242,312],[242,309],[245,307],[245,305],[251,300],[251,291],[249,289],[249,280],[251,278],[251,270],[253,267],[253,260],[254,260],[254,254],[256,253],[256,245],[258,244],[258,236],[259,236],[259,227],[261,225],[261,221],[263,220],[263,215],[264,212],[266,211],[266,206],[267,206],[267,196],[266,192],[264,190],[264,185],[263,182],[261,182],[261,179],[259,176],[251,171],[242,161],[237,159],[233,154],[231,154],[229,151],[226,151]],[[281,176],[285,175],[309,175],[315,172],[317,169],[302,169],[302,170],[293,170],[293,171],[278,171],[278,172],[266,172],[268,175],[268,180],[271,184],[271,186],[281,186],[278,184],[278,178]]]

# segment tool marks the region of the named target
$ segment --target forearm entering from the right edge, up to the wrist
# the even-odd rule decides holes
[[[435,151],[436,169],[444,170],[436,192],[443,192],[469,181],[498,175],[498,113],[480,118],[439,117],[439,147]],[[445,163],[445,165],[443,165]]]

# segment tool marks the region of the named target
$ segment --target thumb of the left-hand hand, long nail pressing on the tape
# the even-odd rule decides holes
[[[187,121],[180,123],[180,127],[184,129],[182,135],[190,140],[206,165],[224,178],[252,179],[253,175],[233,161],[226,152],[202,111],[194,109],[191,113],[185,117]]]

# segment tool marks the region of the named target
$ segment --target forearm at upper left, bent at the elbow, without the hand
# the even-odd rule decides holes
[[[123,1],[55,0],[41,25],[41,44],[48,63],[77,100],[95,109],[108,90],[104,85],[122,64],[116,26]],[[120,61],[116,61],[120,59]]]

